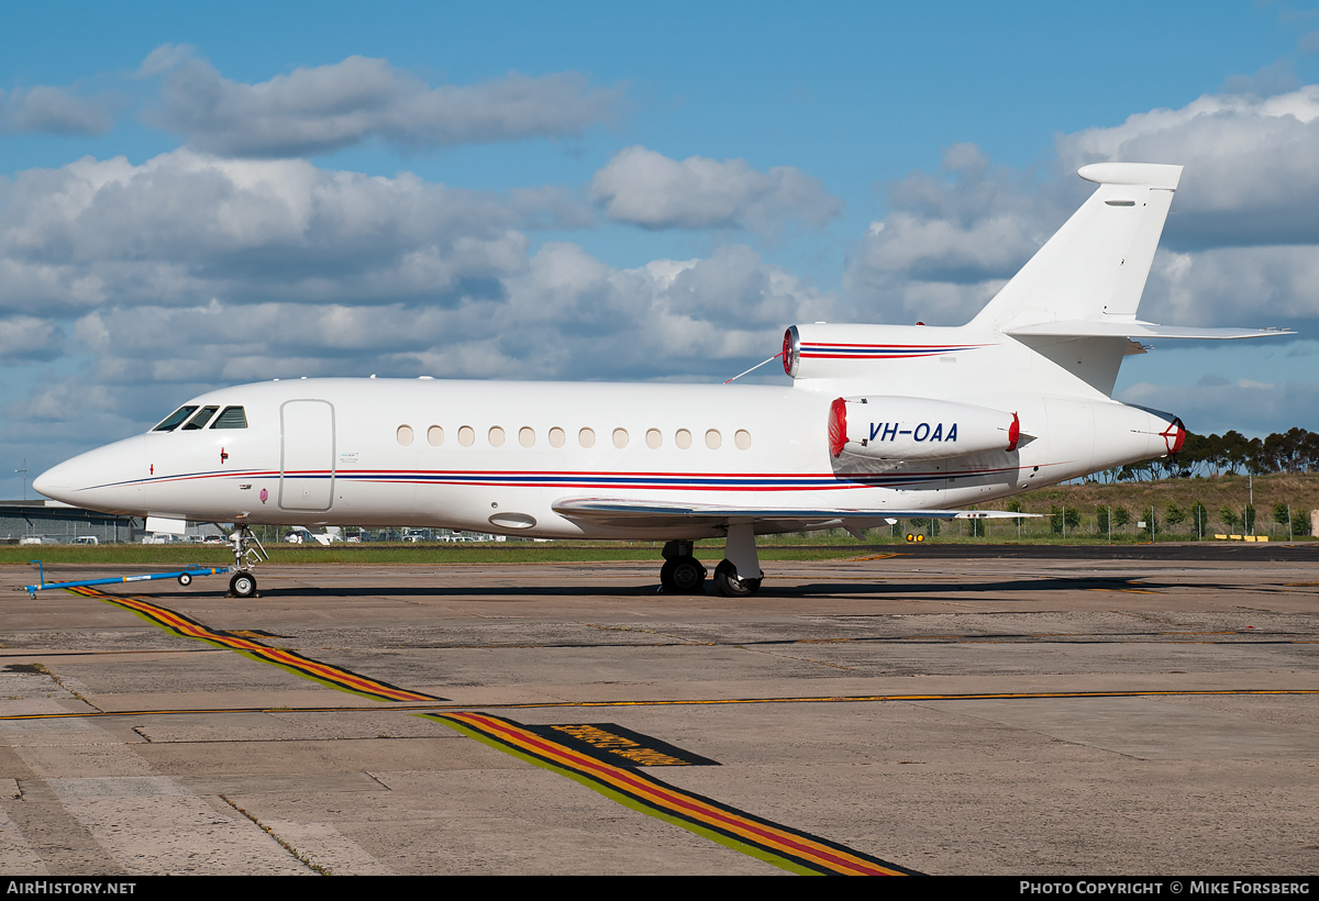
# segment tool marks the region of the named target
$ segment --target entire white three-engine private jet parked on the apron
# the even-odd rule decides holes
[[[787,328],[790,387],[305,379],[190,400],[37,491],[148,529],[233,522],[231,591],[256,592],[257,524],[413,525],[665,541],[665,590],[760,588],[756,536],[959,511],[1177,454],[1181,419],[1111,398],[1142,339],[1277,330],[1136,318],[1182,168],[1093,164],[1099,189],[967,325]]]

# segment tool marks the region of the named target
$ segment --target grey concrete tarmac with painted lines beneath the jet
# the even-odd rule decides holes
[[[0,872],[1312,873],[1319,546],[1169,547],[0,567]]]

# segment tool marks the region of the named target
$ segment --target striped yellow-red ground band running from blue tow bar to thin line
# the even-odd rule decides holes
[[[364,675],[357,675],[351,670],[322,664],[311,660],[310,657],[303,657],[293,650],[270,648],[253,638],[241,637],[235,632],[216,632],[197,620],[189,619],[187,616],[177,613],[166,607],[153,604],[142,598],[111,595],[104,591],[87,587],[67,588],[67,591],[84,598],[104,600],[106,603],[115,604],[116,607],[123,607],[124,609],[142,617],[148,623],[158,625],[166,632],[179,637],[194,638],[218,648],[236,650],[249,660],[278,666],[280,669],[293,673],[294,675],[301,675],[311,679],[313,682],[319,682],[321,685],[331,689],[348,691],[363,698],[372,698],[375,700],[445,700],[445,698],[437,698],[435,695],[422,694],[419,691],[408,691],[389,685],[388,682],[369,679]]]

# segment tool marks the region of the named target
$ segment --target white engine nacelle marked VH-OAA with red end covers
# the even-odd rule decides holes
[[[828,449],[835,458],[938,460],[1014,451],[1016,413],[919,397],[839,397],[830,405]]]

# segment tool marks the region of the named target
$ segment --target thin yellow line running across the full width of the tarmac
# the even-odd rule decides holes
[[[598,707],[719,707],[735,704],[847,704],[929,700],[1039,700],[1050,698],[1231,698],[1253,695],[1319,695],[1319,689],[1208,689],[1194,691],[1133,690],[1133,691],[1014,691],[971,694],[886,694],[886,695],[820,695],[801,698],[683,698],[674,700],[532,700],[501,704],[396,704],[385,710],[398,712],[437,710],[571,710]],[[379,714],[380,707],[187,707],[158,710],[96,710],[59,714],[12,714],[0,722],[28,719],[96,719],[104,716],[177,716],[194,714]]]

